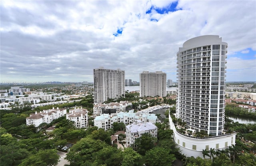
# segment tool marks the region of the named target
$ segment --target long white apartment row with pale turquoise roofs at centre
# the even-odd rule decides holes
[[[128,125],[136,122],[137,120],[156,123],[158,118],[155,114],[137,114],[134,110],[130,110],[129,112],[119,112],[111,115],[102,114],[100,116],[96,116],[94,119],[94,126],[108,130],[109,128],[113,128],[114,122],[123,122],[125,125]]]

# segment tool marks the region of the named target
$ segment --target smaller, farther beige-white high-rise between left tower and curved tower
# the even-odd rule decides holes
[[[166,73],[162,71],[140,73],[140,97],[166,96]]]

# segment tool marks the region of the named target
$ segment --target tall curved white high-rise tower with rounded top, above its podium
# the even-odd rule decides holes
[[[187,40],[177,53],[176,118],[210,136],[224,129],[227,47],[219,36],[206,35]]]

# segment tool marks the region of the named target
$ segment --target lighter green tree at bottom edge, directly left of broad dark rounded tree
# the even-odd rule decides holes
[[[142,156],[132,148],[125,148],[123,153],[122,166],[142,166]]]

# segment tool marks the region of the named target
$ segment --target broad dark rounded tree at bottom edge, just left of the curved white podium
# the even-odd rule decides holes
[[[146,166],[172,166],[174,160],[174,154],[170,154],[168,149],[162,147],[152,148],[144,156]]]

